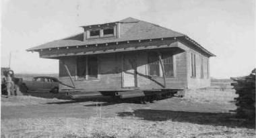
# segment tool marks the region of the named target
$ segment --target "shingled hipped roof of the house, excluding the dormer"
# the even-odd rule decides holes
[[[84,33],[78,33],[74,36],[69,36],[68,38],[64,38],[62,40],[55,40],[53,42],[48,42],[46,44],[42,44],[40,46],[30,48],[27,51],[37,51],[37,50],[49,49],[49,48],[62,48],[67,46],[108,44],[113,42],[127,42],[127,41],[133,41],[133,40],[153,40],[158,38],[184,37],[184,38],[188,38],[187,40],[190,40],[193,44],[195,44],[195,46],[197,46],[207,54],[210,54],[210,56],[215,56],[214,54],[205,50],[205,48],[197,44],[197,42],[195,42],[194,40],[191,40],[189,37],[187,37],[183,33],[179,33],[177,31],[173,31],[172,29],[161,27],[160,25],[156,25],[154,23],[141,21],[139,19],[134,19],[132,17],[128,17],[126,19],[122,19],[121,21],[116,21],[112,23],[124,23],[124,25],[126,25],[125,32],[123,32],[123,29],[121,27],[122,34],[120,38],[108,38],[108,39],[99,38],[99,39],[84,41]],[[103,24],[107,24],[107,23],[103,23]],[[100,25],[103,25],[103,24],[100,24]],[[86,25],[82,27],[88,27],[88,26],[92,26],[92,25]]]

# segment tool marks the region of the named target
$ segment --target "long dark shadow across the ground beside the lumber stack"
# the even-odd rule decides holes
[[[119,117],[139,117],[147,121],[174,121],[199,125],[220,125],[226,127],[247,127],[254,129],[255,121],[245,122],[234,119],[234,113],[198,113],[186,111],[165,111],[137,109],[133,112],[119,112]]]

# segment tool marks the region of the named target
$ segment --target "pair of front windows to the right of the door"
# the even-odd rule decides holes
[[[162,64],[164,66],[164,73],[166,77],[174,76],[174,65],[172,54],[162,54]],[[148,72],[149,76],[162,76],[159,56],[156,53],[148,55]]]

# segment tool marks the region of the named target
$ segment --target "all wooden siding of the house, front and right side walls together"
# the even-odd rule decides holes
[[[98,79],[94,80],[75,80],[76,58],[69,56],[60,58],[69,67],[75,86],[86,90],[108,90],[123,88],[123,54],[133,54],[137,57],[137,87],[141,89],[185,89],[185,88],[205,88],[210,86],[210,71],[207,76],[207,62],[209,57],[193,50],[182,42],[175,42],[177,47],[158,48],[158,52],[172,52],[174,54],[174,77],[166,77],[166,87],[164,88],[164,79],[162,76],[148,76],[148,53],[156,50],[139,50],[131,52],[119,52],[110,54],[97,54],[98,56]],[[196,76],[191,77],[191,52],[195,53]],[[201,78],[201,59],[203,57],[203,78]],[[59,65],[60,80],[64,83],[71,84],[71,80],[65,72],[62,63]],[[209,67],[208,67],[209,68]],[[67,88],[61,86],[60,89]]]

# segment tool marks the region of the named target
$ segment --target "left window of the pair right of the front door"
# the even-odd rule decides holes
[[[160,76],[160,64],[156,53],[148,55],[148,71],[150,76]]]

